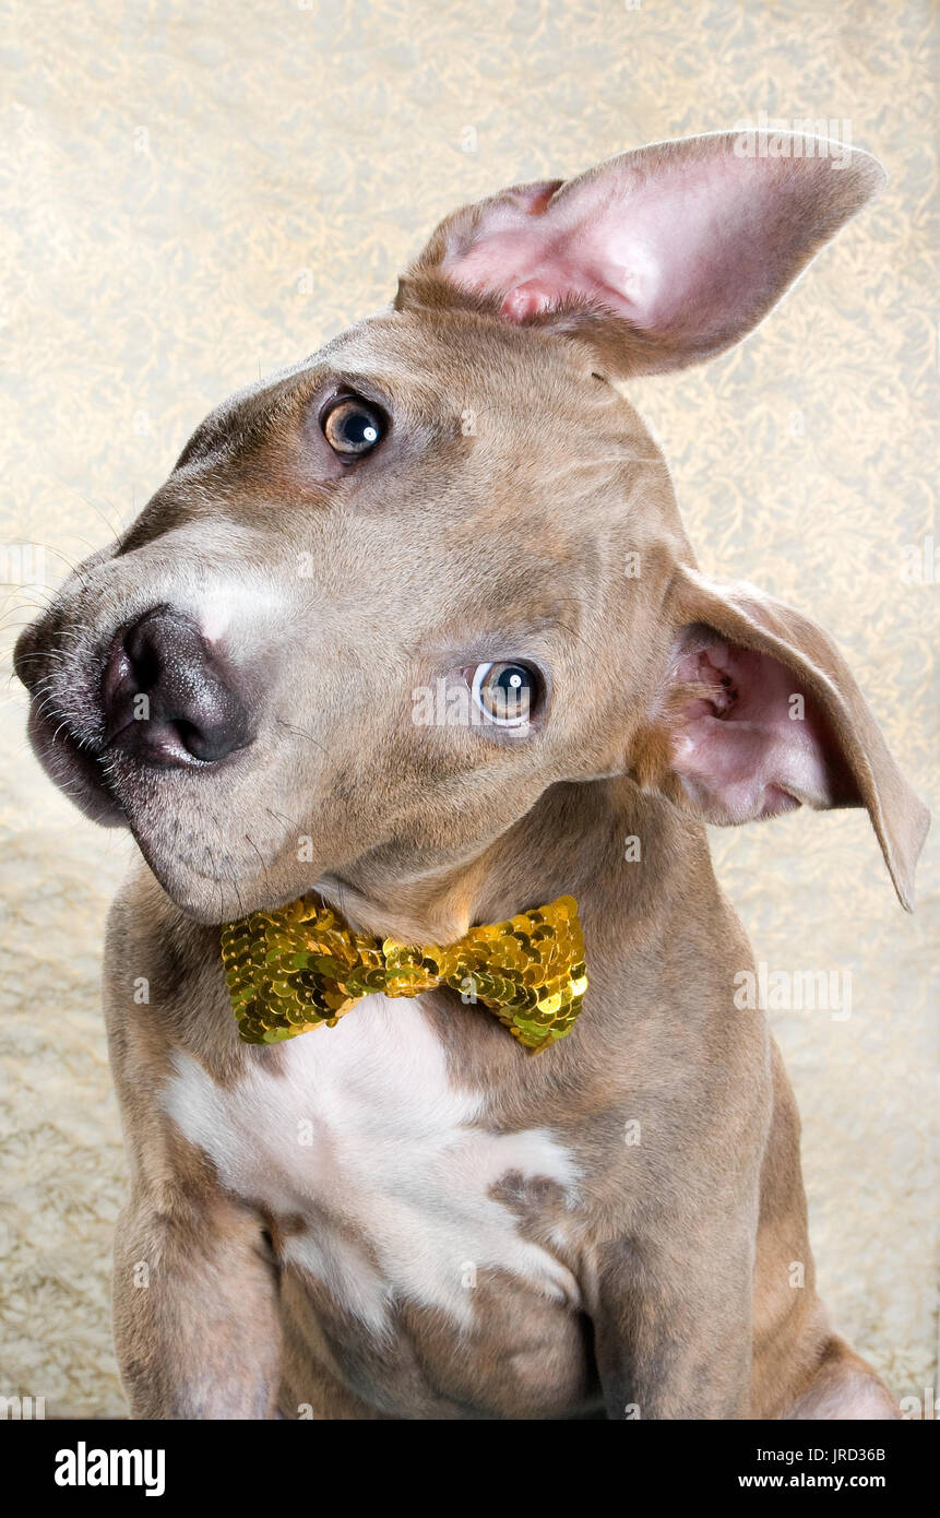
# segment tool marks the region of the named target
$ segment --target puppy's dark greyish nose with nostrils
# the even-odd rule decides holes
[[[232,671],[196,624],[167,606],[115,636],[102,706],[106,742],[146,764],[216,764],[254,738]]]

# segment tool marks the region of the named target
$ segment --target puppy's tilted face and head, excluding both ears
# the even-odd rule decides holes
[[[126,818],[187,909],[366,855],[390,879],[448,865],[617,768],[668,574],[655,525],[682,536],[591,363],[472,314],[374,317],[211,416],[23,639],[47,768]],[[369,428],[361,454],[328,440]]]

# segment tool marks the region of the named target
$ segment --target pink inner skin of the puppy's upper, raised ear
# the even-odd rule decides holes
[[[494,206],[443,270],[524,322],[566,299],[601,304],[633,325],[708,340],[784,278],[787,176],[737,158],[671,161],[658,173],[615,161],[544,194]],[[538,187],[539,190],[542,187]]]

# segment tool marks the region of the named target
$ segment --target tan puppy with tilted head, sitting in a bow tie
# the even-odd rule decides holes
[[[897,1416],[815,1292],[705,823],[864,806],[910,908],[926,814],[826,633],[699,571],[621,389],[741,340],[881,188],[825,146],[457,211],[20,638],[41,762],[141,855],[105,973],[134,1416]],[[220,946],[279,952],[310,900],[389,976],[530,964],[551,903],[585,958],[535,1055],[463,981],[364,972],[328,1026],[279,982],[246,1041]]]

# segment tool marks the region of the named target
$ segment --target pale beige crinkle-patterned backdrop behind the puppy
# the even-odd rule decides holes
[[[937,809],[940,586],[901,574],[937,533],[932,6],[21,0],[9,20],[0,542],[49,545],[47,584],[226,392],[381,305],[460,202],[759,111],[847,120],[890,170],[884,197],[744,348],[636,396],[703,568],[831,627]],[[35,592],[3,594],[8,653]],[[44,780],[3,689],[0,1394],[108,1415],[125,1167],[97,981],[129,846]],[[847,1022],[774,1023],[823,1292],[897,1395],[920,1394],[937,1384],[935,846],[913,918],[860,812],[717,835],[715,855],[758,958],[852,972]]]

